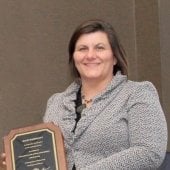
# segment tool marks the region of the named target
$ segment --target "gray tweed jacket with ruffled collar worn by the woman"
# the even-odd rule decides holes
[[[106,90],[85,108],[75,133],[76,93],[73,82],[47,103],[44,122],[60,127],[68,170],[151,170],[165,156],[167,124],[155,87],[134,82],[119,72]]]

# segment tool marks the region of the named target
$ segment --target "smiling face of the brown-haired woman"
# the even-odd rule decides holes
[[[101,31],[81,35],[73,59],[82,80],[111,80],[117,62],[107,34]]]

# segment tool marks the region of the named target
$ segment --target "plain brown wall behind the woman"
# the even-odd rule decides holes
[[[114,26],[129,78],[156,86],[169,125],[169,0],[0,0],[1,152],[11,129],[41,123],[48,98],[70,84],[68,41],[94,18]]]

